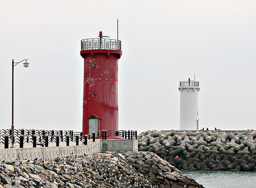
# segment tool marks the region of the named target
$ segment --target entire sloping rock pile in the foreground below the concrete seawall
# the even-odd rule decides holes
[[[0,188],[203,187],[152,152],[3,161],[0,178]]]

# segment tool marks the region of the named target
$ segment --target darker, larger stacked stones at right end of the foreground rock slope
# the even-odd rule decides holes
[[[157,187],[203,187],[152,152],[123,153],[125,161]],[[132,186],[133,187],[133,186]],[[147,187],[147,186],[145,186]]]

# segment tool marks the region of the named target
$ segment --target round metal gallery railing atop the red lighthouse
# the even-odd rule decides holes
[[[81,50],[110,49],[121,50],[121,41],[115,39],[83,39]]]

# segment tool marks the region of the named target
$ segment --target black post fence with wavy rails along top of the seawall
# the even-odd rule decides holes
[[[95,139],[107,139],[108,137],[113,138],[113,136],[123,139],[137,139],[137,130],[100,130],[92,132],[90,135],[82,135],[82,132],[74,132],[73,130],[15,129],[13,137],[11,129],[1,129],[0,145],[4,145],[7,149],[13,141],[14,145],[19,146],[19,148],[24,148],[24,144],[33,145],[33,147],[48,147],[52,143],[55,146],[66,143],[66,146],[69,146],[70,142],[75,142],[78,146],[79,142],[87,145],[88,140],[95,142]]]

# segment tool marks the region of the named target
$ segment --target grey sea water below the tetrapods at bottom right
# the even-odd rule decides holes
[[[256,172],[188,171],[182,172],[205,188],[256,188]]]

